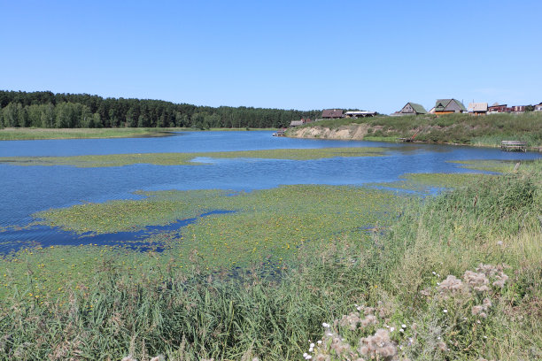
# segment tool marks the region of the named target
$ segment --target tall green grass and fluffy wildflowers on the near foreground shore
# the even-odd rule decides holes
[[[0,358],[537,359],[541,173],[537,161],[413,201],[386,233],[307,243],[288,270],[208,273],[193,255],[188,273],[128,275],[105,257],[57,301],[19,286],[0,305]]]

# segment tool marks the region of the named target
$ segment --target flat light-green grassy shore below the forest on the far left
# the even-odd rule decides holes
[[[0,141],[167,136],[181,128],[4,128]]]

